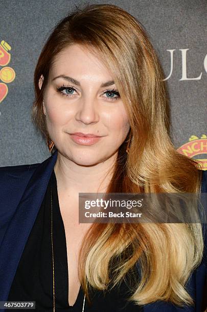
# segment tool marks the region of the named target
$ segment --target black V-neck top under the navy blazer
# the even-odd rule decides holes
[[[82,312],[84,293],[80,287],[73,306],[68,304],[67,249],[64,224],[60,213],[57,181],[53,170],[47,191],[37,214],[29,238],[22,252],[8,297],[8,301],[35,301],[36,310],[53,311],[53,267],[51,244],[51,186],[53,197],[53,251],[55,269],[55,311]],[[123,282],[111,292],[93,290],[89,306],[85,299],[84,312],[139,312],[141,306],[126,301]],[[127,295],[128,296],[128,295]],[[11,310],[11,309],[10,309]],[[13,311],[16,311],[13,309]],[[23,311],[32,311],[24,309]]]

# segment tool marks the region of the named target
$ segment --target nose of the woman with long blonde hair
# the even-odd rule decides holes
[[[98,102],[91,96],[84,96],[78,102],[78,109],[75,115],[77,121],[85,124],[98,122]]]

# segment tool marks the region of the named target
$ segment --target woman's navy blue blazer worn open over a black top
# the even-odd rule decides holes
[[[42,163],[0,167],[0,301],[7,301],[21,254],[37,217],[56,160],[57,150]],[[202,173],[202,192],[207,193],[207,171]],[[195,306],[179,308],[172,303],[156,301],[146,304],[144,312],[202,312],[201,301],[207,280],[206,250],[205,236],[205,255],[202,263],[193,272],[187,284],[187,291],[195,300]]]

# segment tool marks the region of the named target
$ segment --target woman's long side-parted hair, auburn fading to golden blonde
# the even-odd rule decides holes
[[[169,101],[155,50],[141,23],[117,6],[77,7],[45,43],[34,74],[32,109],[43,136],[48,138],[42,101],[49,71],[58,53],[71,44],[83,45],[104,62],[129,117],[130,150],[126,154],[127,137],[106,193],[199,193],[200,165],[171,143]],[[185,285],[202,256],[199,223],[93,224],[81,245],[79,278],[89,299],[86,277],[92,287],[105,290],[119,285],[139,262],[139,278],[130,274],[129,300],[191,305]]]

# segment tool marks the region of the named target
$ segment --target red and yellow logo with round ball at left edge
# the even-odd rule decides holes
[[[0,103],[8,94],[7,84],[15,79],[15,71],[13,68],[6,66],[11,60],[9,51],[11,46],[4,40],[0,43]]]

